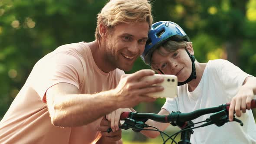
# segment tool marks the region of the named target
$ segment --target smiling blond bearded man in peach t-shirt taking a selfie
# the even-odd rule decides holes
[[[147,0],[109,1],[98,14],[95,41],[60,46],[36,63],[0,122],[0,143],[121,143],[121,131],[97,131],[102,116],[154,101],[147,93],[163,90],[150,87],[163,79],[139,81],[152,70],[121,78],[144,51],[151,23]]]

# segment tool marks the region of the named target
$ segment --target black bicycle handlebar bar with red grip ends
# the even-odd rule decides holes
[[[153,121],[158,121],[162,123],[169,123],[170,121],[186,122],[186,121],[194,120],[202,115],[218,112],[223,109],[225,109],[226,112],[228,112],[229,108],[230,108],[230,103],[226,103],[216,107],[203,108],[203,109],[199,109],[189,113],[177,113],[173,111],[169,115],[158,115],[153,113],[123,112],[120,116],[120,120],[125,120],[125,118],[132,118],[135,120],[151,119]],[[256,108],[255,99],[251,101],[251,108]]]

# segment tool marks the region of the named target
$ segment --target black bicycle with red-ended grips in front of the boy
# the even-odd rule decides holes
[[[198,109],[196,111],[192,111],[189,113],[181,113],[180,111],[172,111],[169,115],[158,115],[154,113],[139,113],[139,112],[123,112],[120,116],[120,120],[124,120],[125,122],[119,126],[121,129],[129,129],[131,128],[135,132],[139,131],[159,131],[161,134],[161,137],[164,141],[163,144],[166,144],[168,140],[172,140],[171,144],[173,142],[175,144],[191,144],[190,143],[190,136],[194,133],[193,129],[205,127],[210,124],[215,124],[218,127],[222,126],[223,124],[230,122],[228,118],[228,111],[230,108],[230,103],[226,103],[223,105],[219,105],[216,107],[211,108],[203,108]],[[251,101],[251,108],[256,108],[256,100],[253,99]],[[210,115],[209,118],[207,118],[205,121],[200,121],[197,123],[193,123],[192,120],[206,114],[213,113],[213,115]],[[148,124],[145,124],[145,122],[151,119],[153,121],[158,121],[162,123],[170,123],[173,126],[178,126],[181,128],[180,131],[172,134],[169,136],[164,131],[158,130],[158,128],[149,126]],[[233,121],[236,121],[240,123],[241,126],[243,126],[243,122],[239,119],[233,118]],[[195,124],[199,124],[205,122],[204,124],[201,124],[200,126],[194,127]],[[144,128],[155,128],[155,129],[144,129]],[[111,128],[108,128],[108,132],[112,131]],[[181,141],[178,143],[174,141],[175,137],[181,133]],[[164,137],[162,134],[165,134],[168,138],[164,140]],[[173,138],[172,138],[173,137]]]

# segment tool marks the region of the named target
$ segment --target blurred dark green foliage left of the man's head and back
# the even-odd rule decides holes
[[[33,65],[66,43],[92,41],[105,0],[0,1],[0,119]]]

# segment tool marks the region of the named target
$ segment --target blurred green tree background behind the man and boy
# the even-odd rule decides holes
[[[256,0],[151,2],[154,22],[169,20],[179,24],[193,42],[199,62],[228,59],[256,75]],[[105,3],[106,0],[0,0],[0,119],[40,58],[63,44],[94,40],[96,16]],[[150,68],[138,59],[127,73],[139,69]],[[142,103],[135,109],[158,112],[164,101]],[[132,139],[145,140],[141,136]]]

